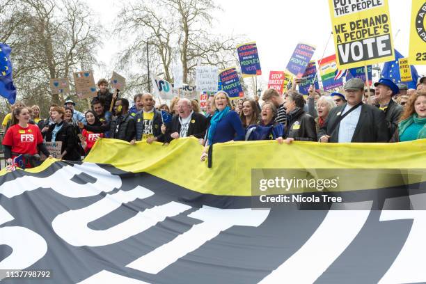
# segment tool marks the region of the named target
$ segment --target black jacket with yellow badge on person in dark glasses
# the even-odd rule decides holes
[[[294,109],[287,113],[284,135],[297,141],[317,141],[314,118],[303,109]]]

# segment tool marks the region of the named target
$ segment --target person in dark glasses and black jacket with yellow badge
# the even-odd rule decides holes
[[[289,93],[285,100],[287,118],[285,120],[285,143],[292,141],[316,141],[315,120],[303,111],[305,99],[299,93]],[[278,141],[281,142],[281,141]]]

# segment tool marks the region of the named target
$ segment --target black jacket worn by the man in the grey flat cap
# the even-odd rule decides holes
[[[329,142],[338,142],[340,123],[336,125],[336,121],[346,105],[347,104],[343,104],[331,109],[324,125],[319,129],[318,139],[321,139],[324,135],[330,135]],[[336,125],[336,127],[333,129],[333,133],[330,133],[333,125]],[[390,135],[384,112],[370,104],[362,104],[361,114],[355,128],[354,136],[352,136],[352,142],[388,142],[389,139]]]

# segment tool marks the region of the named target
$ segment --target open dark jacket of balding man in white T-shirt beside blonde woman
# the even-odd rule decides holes
[[[189,121],[189,128],[187,136],[194,135],[196,138],[201,139],[205,136],[205,130],[207,129],[207,118],[201,113],[192,113],[191,120]],[[171,127],[166,130],[166,142],[173,140],[171,134],[174,132],[180,133],[180,122],[179,116],[173,116]]]

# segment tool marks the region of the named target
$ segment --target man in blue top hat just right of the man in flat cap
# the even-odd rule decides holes
[[[378,82],[374,83],[374,87],[376,87],[376,106],[384,111],[390,137],[392,137],[398,128],[402,111],[404,111],[402,105],[392,100],[394,95],[400,93],[400,88],[392,80],[386,78],[381,78]]]

